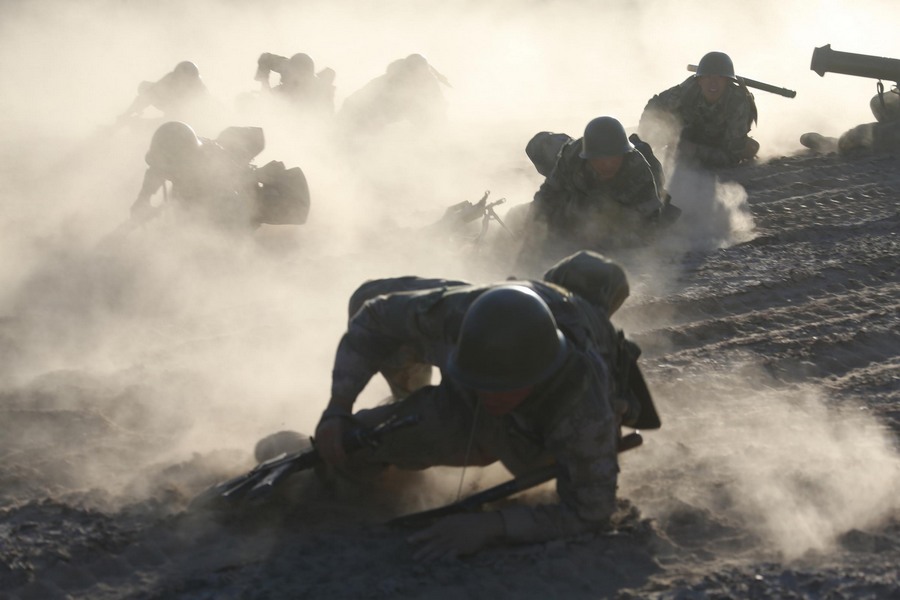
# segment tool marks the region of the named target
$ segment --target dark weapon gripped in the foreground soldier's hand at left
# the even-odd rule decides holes
[[[344,437],[344,448],[347,452],[355,452],[365,447],[375,447],[386,434],[415,425],[420,420],[419,415],[391,417],[375,427],[349,431]],[[281,453],[259,463],[243,475],[210,486],[191,500],[188,510],[234,507],[245,502],[259,501],[268,496],[288,475],[312,469],[321,462],[322,457],[313,440],[313,447],[309,450]]]

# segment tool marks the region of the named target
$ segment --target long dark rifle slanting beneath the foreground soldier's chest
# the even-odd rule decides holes
[[[622,453],[626,450],[637,448],[643,443],[644,438],[641,437],[641,434],[639,432],[634,431],[619,439],[618,451],[619,453]],[[503,500],[504,498],[512,496],[513,494],[523,492],[527,489],[531,489],[535,486],[541,485],[542,483],[546,483],[552,479],[556,479],[558,473],[559,468],[556,464],[546,465],[532,471],[531,473],[526,473],[525,475],[521,475],[519,477],[516,477],[515,479],[510,479],[505,483],[501,483],[500,485],[495,485],[494,487],[488,488],[484,491],[472,494],[471,496],[463,498],[462,500],[459,500],[452,504],[447,504],[446,506],[432,508],[430,510],[424,510],[421,512],[403,515],[402,517],[391,519],[390,521],[388,521],[388,525],[395,527],[416,527],[421,526],[433,519],[446,517],[448,515],[455,515],[464,512],[474,512],[480,509],[485,504]]]

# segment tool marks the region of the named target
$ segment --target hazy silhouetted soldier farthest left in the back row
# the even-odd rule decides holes
[[[153,106],[168,120],[189,118],[191,112],[211,103],[211,96],[200,78],[200,70],[190,61],[175,65],[159,81],[142,81],[138,94],[128,109],[119,115],[118,122],[139,118],[144,110]]]

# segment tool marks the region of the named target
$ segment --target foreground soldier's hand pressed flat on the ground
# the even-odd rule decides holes
[[[503,517],[496,511],[451,515],[414,533],[406,541],[419,544],[414,559],[430,562],[474,554],[488,542],[502,537],[503,531]]]

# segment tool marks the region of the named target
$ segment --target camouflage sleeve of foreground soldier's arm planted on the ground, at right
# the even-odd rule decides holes
[[[537,542],[608,526],[616,507],[617,431],[604,375],[547,439],[561,472],[559,503],[502,509],[505,537]]]

